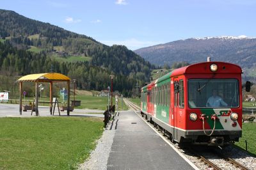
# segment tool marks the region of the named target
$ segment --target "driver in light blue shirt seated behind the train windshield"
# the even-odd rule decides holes
[[[217,89],[212,89],[212,96],[208,98],[206,107],[225,107],[228,104],[218,96]]]

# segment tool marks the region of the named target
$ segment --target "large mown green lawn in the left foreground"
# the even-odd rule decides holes
[[[103,132],[100,118],[0,118],[0,169],[75,169]]]

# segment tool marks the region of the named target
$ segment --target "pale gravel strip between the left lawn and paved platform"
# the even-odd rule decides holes
[[[102,137],[97,141],[98,144],[90,154],[90,158],[81,164],[78,169],[107,169],[108,157],[115,136],[115,130],[109,130],[109,127],[105,128]]]

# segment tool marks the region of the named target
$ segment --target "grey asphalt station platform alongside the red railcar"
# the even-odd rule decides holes
[[[134,111],[116,114],[108,169],[193,169]]]

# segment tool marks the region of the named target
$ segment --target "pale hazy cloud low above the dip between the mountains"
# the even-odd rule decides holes
[[[124,41],[115,41],[115,40],[102,40],[100,41],[106,45],[125,45],[128,49],[131,50],[136,50],[136,49],[140,49],[142,47],[148,47],[148,46],[152,46],[152,45],[157,45],[161,42],[151,42],[151,41],[140,41],[140,40],[136,40],[136,38],[130,38],[128,40],[124,40]]]

